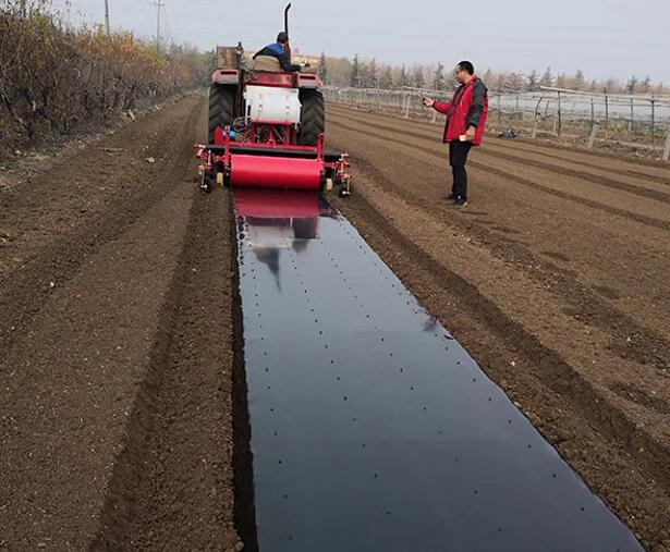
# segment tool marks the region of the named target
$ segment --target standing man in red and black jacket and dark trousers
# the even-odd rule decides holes
[[[449,144],[449,164],[453,172],[453,186],[449,199],[455,205],[467,205],[467,172],[465,162],[473,146],[482,144],[488,115],[488,90],[475,75],[470,61],[462,61],[455,69],[460,86],[449,102],[424,98],[424,106],[447,115],[444,144]]]

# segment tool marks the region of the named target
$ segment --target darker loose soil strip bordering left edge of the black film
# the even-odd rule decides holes
[[[233,550],[228,196],[198,195],[94,550]]]

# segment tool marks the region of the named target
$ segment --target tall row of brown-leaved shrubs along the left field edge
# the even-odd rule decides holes
[[[193,88],[192,47],[157,51],[131,34],[74,29],[40,1],[0,0],[0,148],[81,131]]]

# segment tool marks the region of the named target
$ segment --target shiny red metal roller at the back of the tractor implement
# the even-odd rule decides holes
[[[231,158],[233,186],[318,189],[322,163],[317,159],[288,159],[235,155]]]

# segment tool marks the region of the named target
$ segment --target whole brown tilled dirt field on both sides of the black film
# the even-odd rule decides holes
[[[0,549],[240,549],[230,204],[193,183],[205,110],[190,96],[0,194]],[[670,551],[670,169],[488,139],[458,210],[434,125],[332,108],[328,132],[356,175],[338,206]]]

